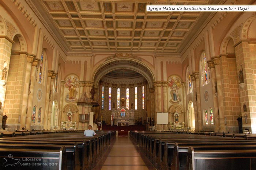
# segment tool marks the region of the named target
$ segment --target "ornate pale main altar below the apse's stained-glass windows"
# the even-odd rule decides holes
[[[134,125],[134,110],[117,109],[112,110],[111,125],[129,126]]]

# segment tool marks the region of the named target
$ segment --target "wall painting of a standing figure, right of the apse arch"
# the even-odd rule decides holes
[[[171,90],[170,92],[170,103],[178,103],[181,102],[181,94],[182,94],[182,85],[181,85],[181,79],[176,76],[170,76],[168,79],[168,86]]]

